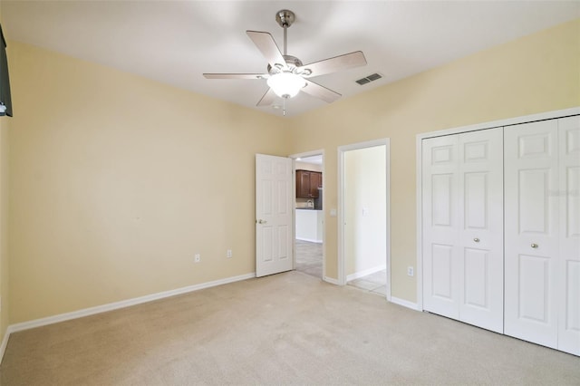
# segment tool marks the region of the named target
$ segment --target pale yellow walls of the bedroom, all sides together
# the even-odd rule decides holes
[[[286,120],[9,42],[9,322],[253,272],[255,153],[336,154],[385,137],[391,291],[414,301],[415,135],[580,105],[579,30],[563,24]],[[324,162],[326,275],[336,277],[336,157]]]

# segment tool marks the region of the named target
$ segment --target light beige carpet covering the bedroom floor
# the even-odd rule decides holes
[[[14,333],[3,385],[580,384],[580,358],[288,272]]]

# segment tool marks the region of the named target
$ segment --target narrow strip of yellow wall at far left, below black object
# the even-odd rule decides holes
[[[0,5],[0,21],[2,5]],[[6,49],[10,55],[10,47]],[[0,117],[0,343],[10,322],[8,310],[8,130],[12,118]]]

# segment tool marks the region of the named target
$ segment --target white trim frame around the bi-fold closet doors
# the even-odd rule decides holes
[[[423,311],[423,250],[422,250],[422,238],[423,238],[423,223],[422,223],[422,140],[433,138],[433,137],[441,137],[444,135],[451,135],[451,134],[460,134],[463,132],[469,131],[477,131],[477,130],[488,130],[494,129],[498,127],[506,127],[517,125],[520,123],[528,123],[534,121],[546,121],[552,120],[555,118],[565,118],[572,115],[580,114],[580,107],[573,107],[571,109],[564,109],[564,110],[556,110],[556,111],[546,111],[540,112],[538,114],[530,114],[524,115],[521,117],[515,118],[508,118],[505,120],[499,121],[488,121],[483,123],[477,123],[474,125],[469,126],[460,126],[453,129],[447,130],[437,130],[437,131],[430,131],[421,134],[417,134],[415,137],[415,146],[416,146],[416,174],[415,178],[417,181],[417,191],[416,191],[416,202],[417,202],[417,212],[416,212],[416,224],[417,224],[417,239],[416,239],[416,269],[415,269],[415,280],[417,280],[417,304],[416,309],[418,311]]]

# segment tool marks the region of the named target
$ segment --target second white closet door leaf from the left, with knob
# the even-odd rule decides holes
[[[459,135],[459,320],[503,332],[503,130]]]

